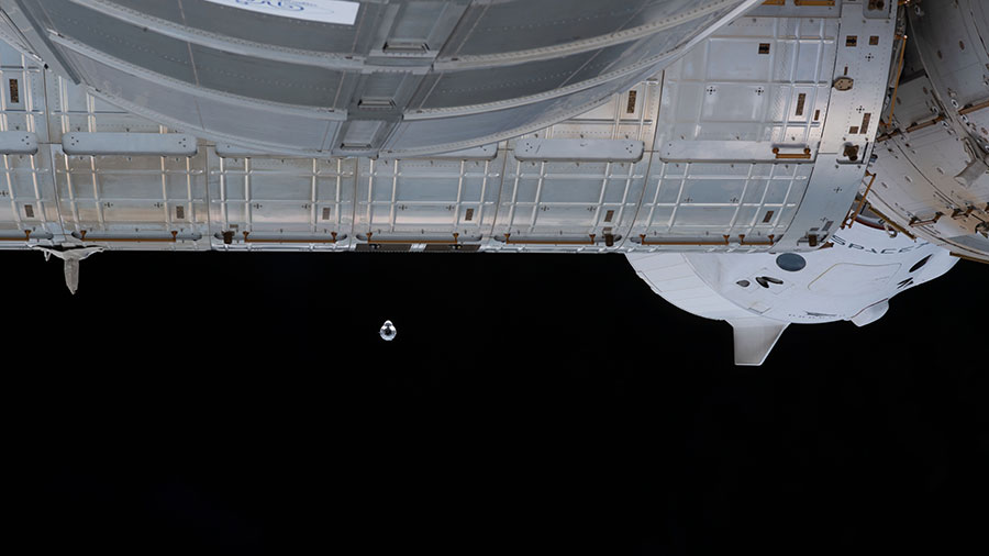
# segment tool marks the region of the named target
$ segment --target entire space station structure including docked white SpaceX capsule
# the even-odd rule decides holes
[[[0,0],[0,249],[74,291],[100,251],[621,253],[758,365],[989,262],[984,0]]]

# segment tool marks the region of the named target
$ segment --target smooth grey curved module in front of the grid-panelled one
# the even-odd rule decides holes
[[[655,73],[756,0],[4,2],[100,97],[257,152],[419,155],[516,136]]]

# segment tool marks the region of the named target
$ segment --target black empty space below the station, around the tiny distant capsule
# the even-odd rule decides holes
[[[989,549],[982,265],[759,368],[621,256],[2,268],[19,554]]]

